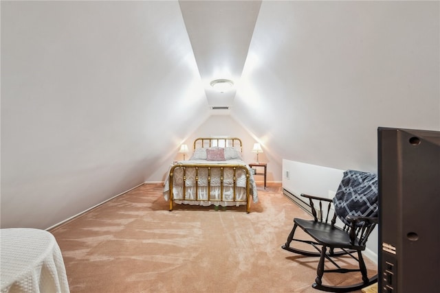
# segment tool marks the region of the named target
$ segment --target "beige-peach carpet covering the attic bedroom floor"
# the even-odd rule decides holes
[[[51,232],[72,293],[320,292],[311,288],[318,259],[281,249],[294,217],[309,216],[281,185],[259,185],[248,214],[245,207],[188,205],[170,212],[162,185],[152,184]],[[366,261],[371,276],[376,267]],[[360,282],[358,274],[327,275],[332,285]]]

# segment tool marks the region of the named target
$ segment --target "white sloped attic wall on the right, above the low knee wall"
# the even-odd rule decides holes
[[[376,172],[377,127],[440,130],[439,6],[263,1],[234,119],[281,159]]]

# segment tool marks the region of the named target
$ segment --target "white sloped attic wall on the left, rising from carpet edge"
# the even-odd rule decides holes
[[[177,1],[2,1],[1,78],[2,228],[144,183],[207,116]]]

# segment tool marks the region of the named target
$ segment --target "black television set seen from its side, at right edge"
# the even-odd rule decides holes
[[[440,292],[440,132],[378,128],[379,292]]]

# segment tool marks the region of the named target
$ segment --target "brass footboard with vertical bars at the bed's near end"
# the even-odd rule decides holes
[[[181,201],[245,204],[250,212],[250,170],[245,165],[177,164],[168,176],[170,211],[175,201]],[[245,196],[239,194],[243,190]]]

